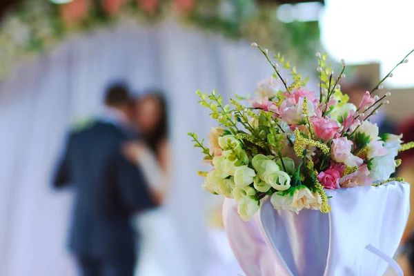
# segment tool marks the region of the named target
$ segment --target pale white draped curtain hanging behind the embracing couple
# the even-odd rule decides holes
[[[195,90],[227,100],[246,94],[272,70],[250,42],[228,41],[169,21],[123,26],[72,38],[17,67],[0,88],[0,275],[76,275],[66,249],[71,191],[50,188],[66,130],[96,112],[111,81],[135,91],[161,88],[169,99],[174,177],[168,210],[190,276],[208,275],[216,254],[208,244],[201,154],[187,132],[206,137],[213,121]],[[186,275],[180,275],[186,276]]]

